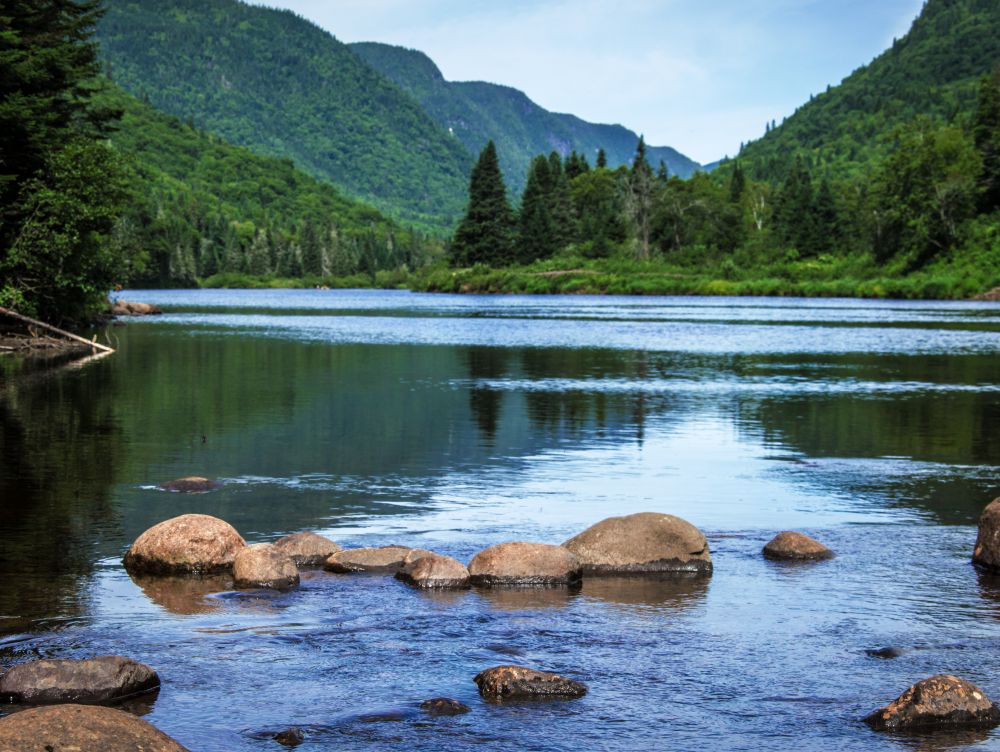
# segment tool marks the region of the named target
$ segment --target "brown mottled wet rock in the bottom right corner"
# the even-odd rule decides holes
[[[926,726],[994,726],[1000,708],[975,684],[949,674],[919,681],[897,699],[866,716],[864,722],[879,731]]]

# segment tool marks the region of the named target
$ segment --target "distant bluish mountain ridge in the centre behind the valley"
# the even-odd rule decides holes
[[[599,125],[549,112],[508,86],[446,81],[434,61],[416,50],[377,42],[351,44],[350,48],[420,102],[428,115],[473,154],[492,139],[507,185],[517,193],[524,187],[531,159],[538,154],[554,150],[566,156],[576,150],[593,165],[597,150],[603,148],[611,167],[628,164],[635,155],[639,136],[621,125]],[[670,173],[680,177],[701,168],[668,146],[647,147],[647,155],[654,167],[663,160]]]

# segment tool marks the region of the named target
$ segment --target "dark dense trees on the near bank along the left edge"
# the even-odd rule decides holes
[[[125,173],[95,107],[93,0],[0,9],[0,304],[51,321],[90,315],[124,265],[111,237]]]

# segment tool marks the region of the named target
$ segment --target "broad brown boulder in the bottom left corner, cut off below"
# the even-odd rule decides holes
[[[0,752],[188,752],[134,715],[99,705],[53,705],[0,718]]]

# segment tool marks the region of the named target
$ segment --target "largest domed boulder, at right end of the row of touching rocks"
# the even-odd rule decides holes
[[[585,575],[711,574],[708,541],[690,522],[640,512],[609,517],[563,543]]]

